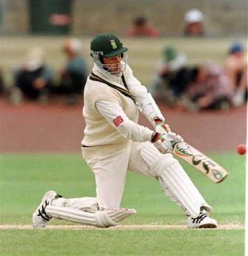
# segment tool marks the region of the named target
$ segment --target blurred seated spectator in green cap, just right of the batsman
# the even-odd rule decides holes
[[[182,101],[191,77],[186,65],[185,54],[178,54],[173,47],[165,47],[164,58],[157,65],[150,89],[155,99],[163,100],[167,105],[177,105]]]

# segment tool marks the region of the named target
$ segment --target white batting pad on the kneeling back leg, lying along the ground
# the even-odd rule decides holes
[[[136,213],[136,210],[116,208],[99,210],[96,213],[87,213],[83,210],[73,208],[47,206],[46,212],[58,219],[78,222],[88,226],[107,228],[120,224],[123,219]]]

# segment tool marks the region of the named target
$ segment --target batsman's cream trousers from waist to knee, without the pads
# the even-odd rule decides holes
[[[106,157],[85,159],[95,174],[99,209],[120,206],[127,170],[146,176],[155,176],[152,175],[152,170],[141,156],[141,149],[144,146],[154,148],[149,142],[131,142],[125,149]]]

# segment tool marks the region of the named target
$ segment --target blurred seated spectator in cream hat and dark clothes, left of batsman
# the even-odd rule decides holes
[[[47,102],[52,87],[53,71],[44,62],[44,50],[29,50],[22,66],[14,71],[14,86],[10,88],[9,102],[19,104],[23,96]]]

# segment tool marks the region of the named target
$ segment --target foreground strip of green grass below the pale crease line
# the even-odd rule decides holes
[[[1,255],[244,255],[244,230],[4,230],[2,235]]]

